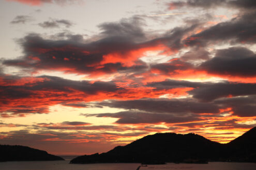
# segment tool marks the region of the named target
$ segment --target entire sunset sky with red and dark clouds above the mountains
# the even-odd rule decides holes
[[[256,126],[254,0],[1,0],[0,144],[106,152]]]

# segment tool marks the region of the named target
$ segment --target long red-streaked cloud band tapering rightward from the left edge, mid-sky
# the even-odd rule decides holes
[[[104,99],[139,99],[187,95],[193,88],[158,90],[150,87],[117,87],[114,82],[72,81],[56,77],[2,77],[0,78],[0,112],[2,117],[25,116],[28,113],[49,113],[49,107],[57,104],[86,107],[81,102]],[[62,84],[62,85],[61,85]]]

